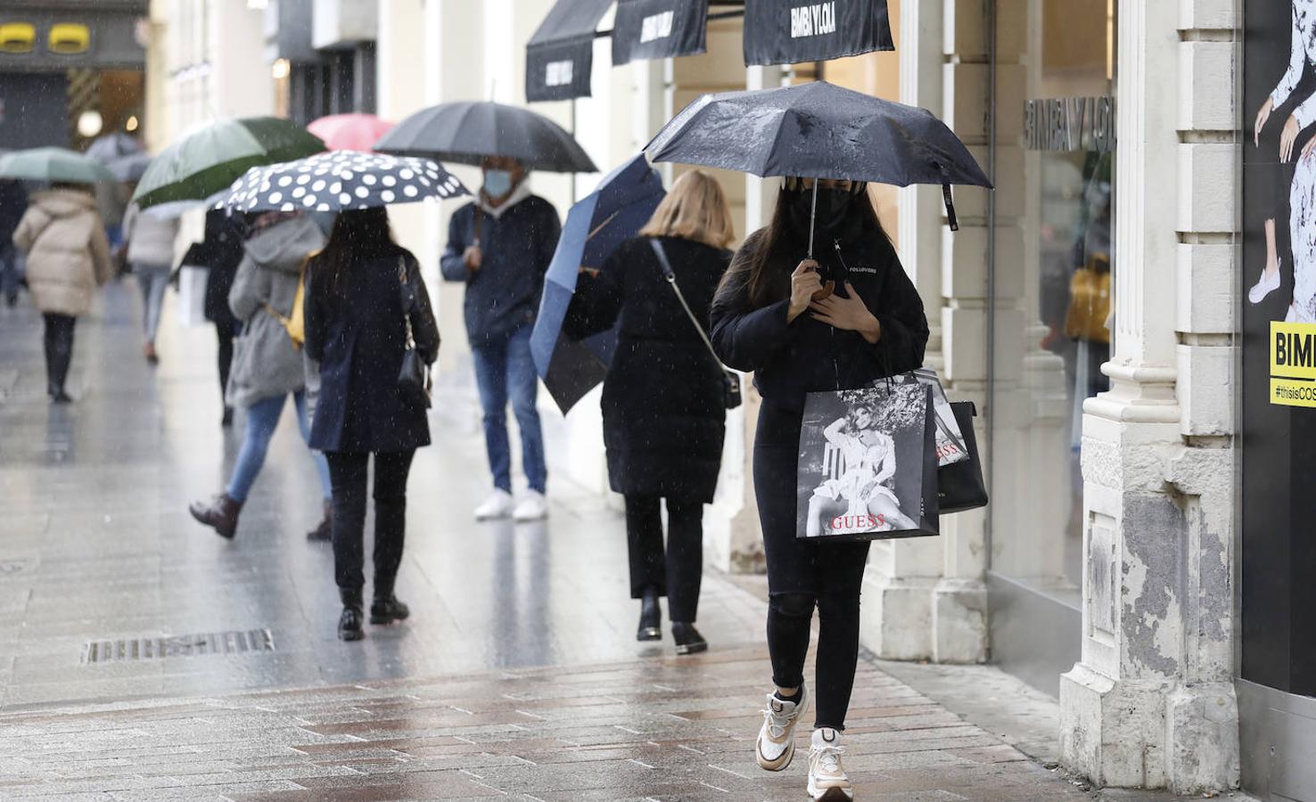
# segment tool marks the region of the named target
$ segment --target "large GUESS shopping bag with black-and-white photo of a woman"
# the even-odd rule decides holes
[[[919,381],[809,393],[800,429],[796,536],[940,534],[936,413]]]

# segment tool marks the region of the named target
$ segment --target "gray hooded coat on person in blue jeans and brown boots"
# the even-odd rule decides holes
[[[266,306],[284,317],[292,314],[301,266],[324,245],[324,233],[309,217],[280,222],[246,242],[229,291],[229,308],[242,323],[229,373],[229,404],[251,406],[305,387],[303,356]]]

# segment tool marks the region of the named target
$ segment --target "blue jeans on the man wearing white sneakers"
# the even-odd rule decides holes
[[[507,436],[507,402],[521,430],[521,465],[532,490],[544,492],[549,471],[544,465],[544,433],[536,398],[540,377],[530,358],[530,323],[520,326],[503,341],[471,348],[475,383],[484,409],[484,447],[490,455],[494,486],[512,492],[512,447]]]

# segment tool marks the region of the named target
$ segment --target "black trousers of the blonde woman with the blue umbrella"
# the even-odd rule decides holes
[[[667,596],[671,621],[695,623],[704,578],[704,505],[667,498],[667,548],[657,496],[626,496],[626,544],[630,552],[630,598],[645,588]]]

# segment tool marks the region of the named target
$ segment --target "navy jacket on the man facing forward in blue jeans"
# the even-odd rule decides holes
[[[544,273],[553,262],[562,224],[553,205],[532,195],[494,218],[480,210],[480,270],[467,270],[462,254],[475,243],[476,205],[467,204],[447,225],[443,277],[466,283],[466,333],[471,347],[505,338],[534,322],[544,293]]]

